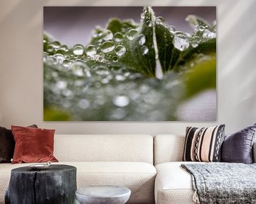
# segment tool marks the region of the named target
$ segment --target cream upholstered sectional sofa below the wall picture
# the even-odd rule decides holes
[[[193,203],[191,175],[180,167],[184,140],[183,135],[55,135],[54,154],[57,164],[77,167],[78,188],[125,186],[132,191],[128,203]],[[0,203],[11,169],[28,165],[0,164]]]

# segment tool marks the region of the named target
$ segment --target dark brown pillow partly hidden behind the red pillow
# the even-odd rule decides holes
[[[28,127],[37,128],[36,125]],[[14,147],[14,135],[11,130],[0,127],[0,163],[11,163],[11,159],[14,156]]]

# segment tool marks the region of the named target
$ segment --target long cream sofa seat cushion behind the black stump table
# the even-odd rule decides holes
[[[77,168],[78,188],[82,186],[116,185],[131,189],[128,203],[154,203],[156,169],[145,162],[58,162]],[[0,203],[9,186],[11,169],[31,164],[0,164]]]

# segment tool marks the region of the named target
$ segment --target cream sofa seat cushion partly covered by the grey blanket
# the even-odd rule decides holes
[[[156,204],[194,204],[191,174],[181,168],[181,164],[186,163],[194,162],[166,162],[156,165]]]

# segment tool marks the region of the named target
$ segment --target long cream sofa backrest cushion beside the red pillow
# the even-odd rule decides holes
[[[59,162],[148,162],[153,164],[151,135],[55,135]]]

